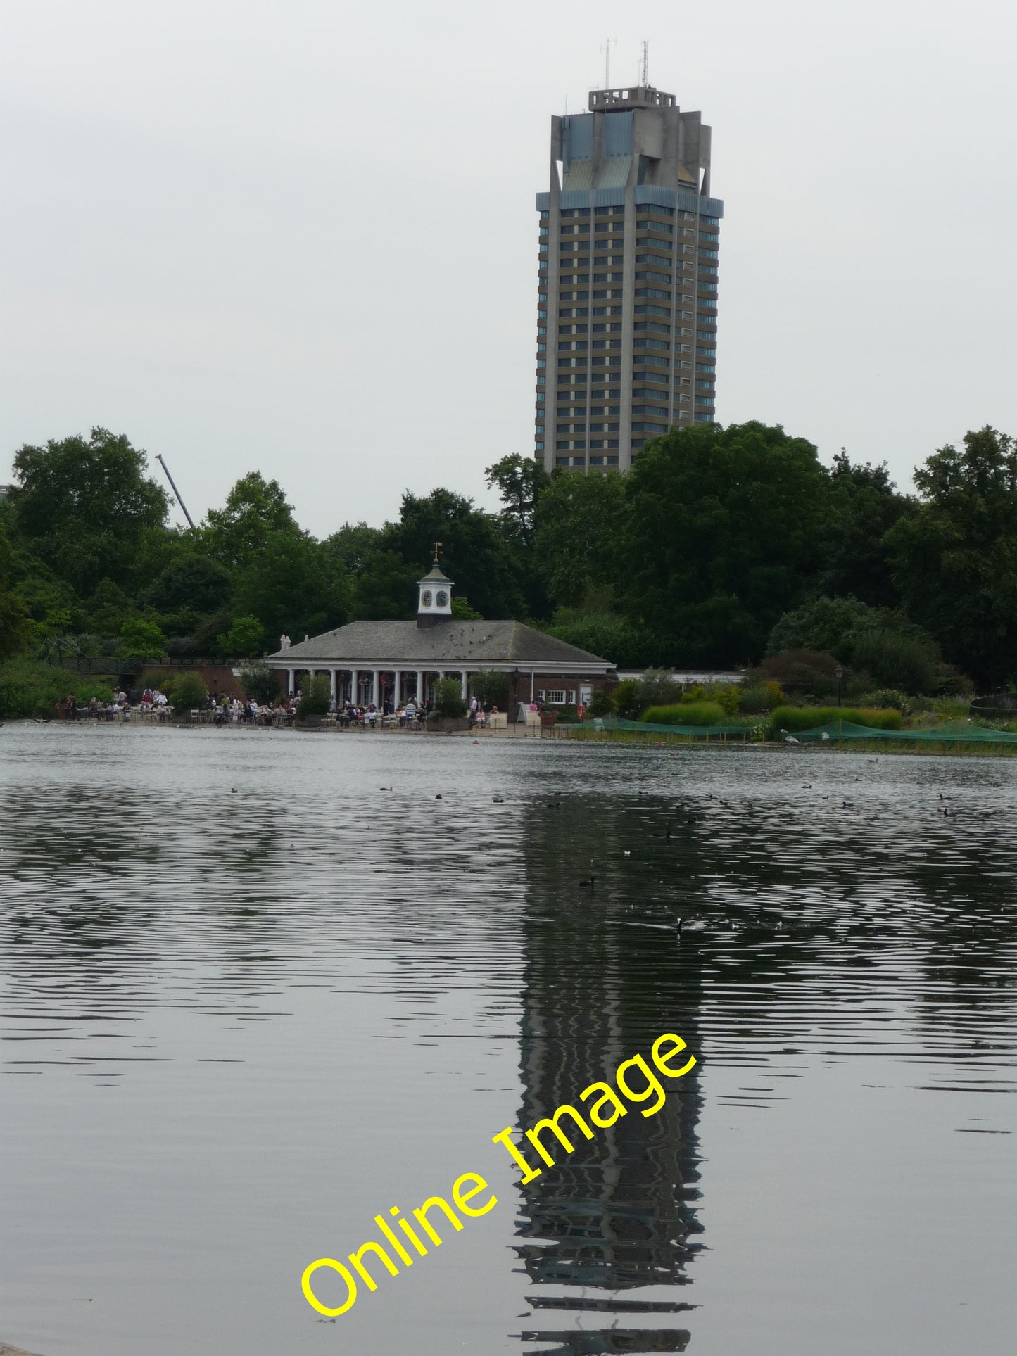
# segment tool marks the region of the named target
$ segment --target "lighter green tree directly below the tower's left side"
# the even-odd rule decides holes
[[[625,483],[616,473],[556,476],[536,510],[537,563],[552,599],[575,607],[591,587],[616,579]]]

